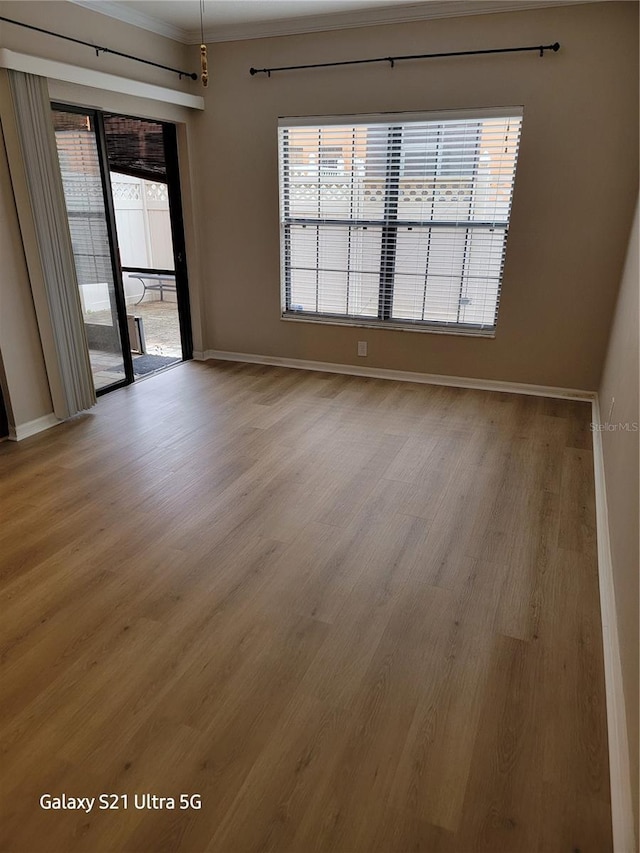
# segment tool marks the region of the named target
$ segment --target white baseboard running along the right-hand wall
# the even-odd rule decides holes
[[[600,404],[592,404],[594,424],[600,423]],[[598,579],[600,584],[600,614],[604,649],[604,676],[607,699],[607,729],[609,739],[609,774],[611,777],[611,818],[615,853],[635,853],[629,739],[620,661],[618,617],[616,612],[613,564],[609,540],[609,515],[605,486],[602,433],[593,432],[593,468],[596,492],[596,527],[598,538]]]

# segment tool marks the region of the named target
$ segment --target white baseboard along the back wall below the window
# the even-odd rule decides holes
[[[349,376],[366,376],[371,379],[395,379],[400,382],[418,382],[423,385],[448,385],[454,388],[473,388],[481,391],[502,391],[507,394],[530,394],[536,397],[561,397],[569,400],[595,398],[594,391],[579,391],[573,388],[554,388],[547,385],[527,385],[521,382],[502,382],[495,379],[470,379],[464,376],[441,376],[437,373],[414,373],[409,370],[390,370],[384,367],[365,367],[355,364],[332,364],[326,361],[305,361],[298,358],[280,358],[271,355],[255,355],[244,352],[205,350],[194,352],[196,361],[242,361],[250,364],[268,364],[275,367],[291,367],[297,370],[319,370],[323,373],[342,373]]]

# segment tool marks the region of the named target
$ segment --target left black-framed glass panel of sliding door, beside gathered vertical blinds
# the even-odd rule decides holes
[[[93,111],[55,107],[62,185],[96,392],[133,380],[126,311],[112,227],[111,188]]]

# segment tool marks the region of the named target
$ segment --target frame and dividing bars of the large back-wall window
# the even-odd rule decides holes
[[[396,329],[401,331],[413,331],[430,334],[450,334],[464,335],[483,338],[494,338],[498,321],[498,312],[500,305],[500,296],[502,292],[504,280],[504,265],[506,259],[507,239],[511,225],[511,210],[513,196],[515,193],[515,180],[517,165],[520,152],[520,140],[522,133],[523,122],[523,107],[491,107],[485,109],[473,110],[446,110],[446,111],[430,111],[427,113],[381,113],[376,115],[345,115],[345,116],[298,116],[298,117],[282,117],[278,120],[279,136],[280,131],[291,130],[296,127],[309,128],[329,128],[332,125],[341,127],[367,127],[381,125],[388,130],[387,135],[387,156],[385,159],[386,173],[384,176],[384,213],[381,219],[369,220],[354,220],[354,219],[328,219],[328,218],[305,218],[291,217],[290,215],[290,199],[289,192],[291,184],[289,183],[291,161],[288,157],[283,157],[283,148],[288,144],[288,138],[285,142],[285,134],[279,139],[278,145],[278,161],[279,161],[279,190],[280,190],[280,228],[281,228],[281,315],[280,319],[286,322],[307,322],[320,323],[327,325],[343,325],[363,328],[383,328]],[[398,218],[398,187],[400,180],[405,175],[406,169],[406,152],[403,156],[402,152],[402,129],[406,128],[407,123],[452,121],[460,120],[477,120],[483,122],[493,118],[513,118],[519,120],[518,135],[515,141],[514,161],[513,161],[513,177],[510,190],[509,206],[506,212],[506,220],[494,221],[476,221],[467,219],[462,222],[446,221],[438,223],[435,220],[400,220]],[[394,127],[394,121],[399,124]],[[480,134],[478,134],[479,142]],[[292,146],[295,147],[295,146]],[[319,145],[319,148],[321,146]],[[326,147],[326,146],[324,146]],[[438,164],[435,175],[442,177],[442,163],[446,161],[446,146],[438,153]],[[318,163],[319,167],[319,163]],[[319,229],[323,226],[341,226],[341,227],[371,227],[382,230],[381,236],[381,252],[380,252],[380,274],[378,285],[378,314],[377,316],[366,315],[341,315],[330,314],[326,312],[300,311],[292,307],[292,281],[291,281],[291,263],[287,263],[287,259],[291,258],[291,227],[292,225],[315,226]],[[393,291],[395,284],[395,259],[397,249],[397,238],[400,228],[426,227],[431,232],[432,228],[437,228],[443,225],[448,228],[462,227],[466,231],[465,240],[469,240],[469,233],[473,233],[479,229],[490,229],[495,231],[496,228],[503,231],[503,249],[502,262],[498,278],[498,289],[496,295],[496,308],[494,313],[493,325],[485,323],[464,323],[460,322],[460,310],[464,303],[462,296],[462,284],[464,282],[464,274],[461,275],[461,295],[458,298],[458,320],[452,322],[450,320],[438,321],[433,319],[428,320],[412,320],[408,318],[393,317]],[[318,269],[318,267],[316,267]],[[426,268],[428,270],[428,267]],[[425,273],[426,274],[426,273]],[[347,285],[347,299],[348,299]],[[425,290],[426,295],[426,290]],[[424,312],[423,312],[424,315]]]

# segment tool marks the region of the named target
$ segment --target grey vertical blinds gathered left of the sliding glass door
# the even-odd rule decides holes
[[[95,405],[96,393],[82,318],[67,209],[60,177],[47,81],[9,71],[18,136],[53,327],[67,418]],[[64,411],[59,410],[64,408]]]

